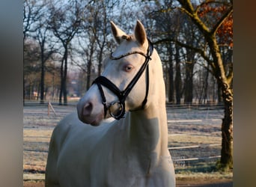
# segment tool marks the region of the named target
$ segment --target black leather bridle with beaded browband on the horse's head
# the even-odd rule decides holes
[[[114,85],[109,79],[107,79],[105,76],[99,76],[97,79],[94,80],[92,84],[97,84],[100,95],[102,97],[102,103],[104,105],[104,115],[106,117],[106,113],[109,109],[109,114],[114,117],[116,120],[120,120],[124,117],[125,114],[125,99],[127,99],[127,96],[129,95],[129,92],[132,91],[132,88],[135,86],[135,84],[138,82],[138,79],[141,77],[142,73],[144,73],[144,70],[147,68],[146,72],[146,94],[144,97],[143,102],[141,103],[141,108],[143,109],[144,106],[147,103],[147,95],[148,95],[148,88],[149,88],[149,70],[148,70],[148,63],[151,60],[150,56],[153,53],[153,44],[150,42],[150,40],[147,38],[148,41],[148,48],[147,48],[147,54],[144,54],[143,52],[128,52],[124,55],[120,55],[118,57],[113,57],[112,54],[110,55],[110,59],[112,60],[119,60],[121,58],[124,58],[128,55],[133,54],[140,54],[143,55],[145,58],[144,63],[142,64],[141,68],[138,70],[138,73],[135,75],[135,77],[132,79],[131,82],[129,82],[129,85],[127,85],[127,88],[124,89],[124,91],[120,91],[119,88]],[[115,93],[116,96],[118,96],[119,101],[115,101],[107,105],[106,102],[106,96],[103,92],[102,85],[106,88],[108,88],[112,93]]]

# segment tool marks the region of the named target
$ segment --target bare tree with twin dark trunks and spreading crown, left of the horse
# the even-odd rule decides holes
[[[86,4],[81,4],[79,0],[52,1],[49,6],[49,28],[53,31],[55,37],[61,41],[64,49],[61,60],[61,90],[59,95],[59,105],[62,105],[62,94],[64,96],[64,105],[67,105],[67,60],[71,40],[79,31],[81,22],[84,20],[84,10]]]

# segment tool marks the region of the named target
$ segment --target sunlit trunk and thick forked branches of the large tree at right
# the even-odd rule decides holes
[[[222,151],[221,151],[221,160],[220,167],[224,169],[233,168],[233,89],[232,89],[232,80],[233,80],[233,71],[227,73],[225,70],[222,54],[219,49],[219,44],[217,41],[216,33],[220,26],[223,24],[225,19],[227,19],[233,13],[233,3],[232,1],[223,1],[222,5],[225,5],[225,12],[222,13],[219,20],[212,25],[207,25],[201,17],[198,15],[198,11],[204,5],[213,4],[213,7],[216,7],[216,4],[219,1],[206,1],[200,4],[197,7],[194,7],[189,0],[178,0],[181,4],[179,9],[186,13],[192,22],[198,27],[203,34],[204,39],[207,41],[207,46],[209,47],[210,57],[206,55],[204,50],[195,49],[194,50],[210,64],[212,68],[212,73],[215,76],[217,83],[220,88],[222,88],[222,98],[224,99],[225,104],[225,114],[224,119],[222,120]],[[193,49],[192,46],[186,46],[189,49]]]

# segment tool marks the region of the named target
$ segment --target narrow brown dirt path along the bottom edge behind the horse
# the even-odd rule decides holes
[[[43,182],[24,182],[24,187],[44,187]],[[232,187],[232,180],[177,180],[177,187]]]

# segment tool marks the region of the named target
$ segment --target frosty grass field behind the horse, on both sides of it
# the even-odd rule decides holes
[[[52,130],[61,118],[76,105],[53,105],[55,113],[47,105],[24,105],[23,113],[23,180],[44,180],[47,151]],[[174,107],[168,105],[168,147],[171,147],[178,180],[232,179],[232,173],[220,174],[214,170],[221,149],[222,108]],[[212,146],[209,146],[212,145]],[[175,149],[175,147],[189,147]],[[195,147],[191,147],[195,146]],[[185,159],[185,160],[184,160]],[[192,160],[189,160],[192,159]]]

